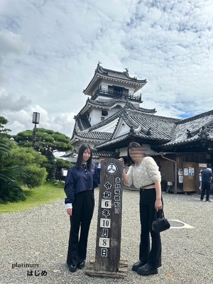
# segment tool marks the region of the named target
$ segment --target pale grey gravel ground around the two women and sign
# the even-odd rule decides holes
[[[96,189],[87,264],[95,254],[98,195],[99,190]],[[213,202],[200,202],[199,195],[163,192],[165,217],[178,219],[194,229],[176,228],[161,233],[163,266],[159,268],[158,275],[141,276],[131,271],[132,264],[138,261],[138,198],[136,191],[123,192],[121,258],[128,261],[126,278],[92,278],[84,274],[86,267],[70,273],[65,264],[70,221],[63,200],[58,200],[27,212],[0,214],[0,283],[213,283]],[[29,268],[16,267],[26,263],[37,266],[31,268],[31,276],[27,275]],[[47,275],[38,275],[42,271]]]

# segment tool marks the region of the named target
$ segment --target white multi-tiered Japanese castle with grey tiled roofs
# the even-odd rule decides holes
[[[141,107],[138,91],[146,82],[130,77],[128,69],[118,72],[98,64],[83,91],[89,98],[75,116],[74,151],[65,156],[75,161],[85,142],[96,159],[126,159],[129,142],[137,141],[158,163],[163,190],[199,192],[200,170],[213,165],[213,110],[188,119],[158,116],[155,109]]]

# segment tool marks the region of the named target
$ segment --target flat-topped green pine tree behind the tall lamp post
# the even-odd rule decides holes
[[[33,131],[26,130],[13,136],[19,146],[32,147]],[[44,163],[44,167],[48,171],[48,179],[55,179],[55,171],[57,168],[54,152],[65,152],[71,150],[70,138],[60,132],[55,132],[49,129],[38,128],[36,130],[35,151],[48,158]]]

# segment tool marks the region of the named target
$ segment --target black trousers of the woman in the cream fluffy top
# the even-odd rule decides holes
[[[141,243],[139,259],[143,263],[158,268],[161,266],[161,239],[160,234],[156,234],[151,229],[155,216],[155,200],[155,188],[140,191]]]

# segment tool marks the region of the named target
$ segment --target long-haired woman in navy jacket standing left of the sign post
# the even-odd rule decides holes
[[[94,212],[94,187],[98,187],[99,179],[100,168],[92,163],[92,148],[84,143],[65,180],[65,204],[70,215],[67,265],[71,272],[85,265],[89,226]]]

